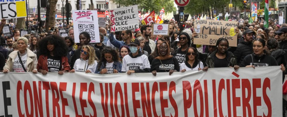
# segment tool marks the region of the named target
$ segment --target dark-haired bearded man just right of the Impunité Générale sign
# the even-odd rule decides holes
[[[151,36],[151,27],[149,25],[142,25],[141,32],[143,34],[143,38],[146,40],[143,50],[147,51],[148,55],[150,55],[156,48],[156,43],[148,38]]]

